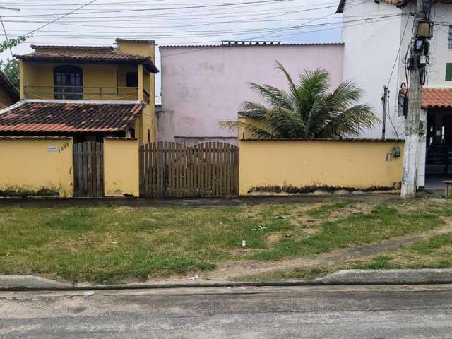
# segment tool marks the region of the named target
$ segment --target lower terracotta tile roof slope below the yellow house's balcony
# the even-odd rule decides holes
[[[28,102],[0,112],[0,133],[102,133],[128,131],[141,103]]]

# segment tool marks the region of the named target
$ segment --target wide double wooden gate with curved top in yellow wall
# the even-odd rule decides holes
[[[237,196],[239,148],[201,143],[187,148],[157,142],[140,148],[140,194],[145,197]]]

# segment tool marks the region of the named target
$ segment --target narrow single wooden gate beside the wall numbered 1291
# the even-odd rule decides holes
[[[74,196],[104,196],[104,148],[100,141],[73,144]]]

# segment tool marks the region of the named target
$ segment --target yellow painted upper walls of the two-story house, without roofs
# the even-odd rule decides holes
[[[120,40],[120,52],[139,54],[155,60],[155,45],[148,40]],[[39,49],[38,49],[39,50]],[[54,99],[54,67],[68,63],[20,61],[20,99]],[[140,100],[145,102],[143,114],[136,123],[136,137],[141,145],[157,140],[155,119],[155,74],[143,65],[73,64],[83,70],[82,100]],[[138,88],[126,87],[126,74],[138,73]],[[146,93],[145,93],[145,92]]]

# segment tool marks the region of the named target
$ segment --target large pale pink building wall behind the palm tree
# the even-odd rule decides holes
[[[162,111],[159,141],[193,145],[201,141],[237,144],[237,132],[220,121],[236,120],[242,102],[261,102],[250,81],[287,89],[278,60],[297,78],[306,69],[327,69],[331,86],[343,79],[343,45],[260,45],[233,47],[160,47]]]

